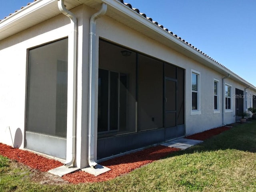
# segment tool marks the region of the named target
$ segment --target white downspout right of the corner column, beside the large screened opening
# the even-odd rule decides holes
[[[96,167],[94,161],[94,120],[95,120],[95,44],[96,44],[96,19],[103,16],[107,11],[107,5],[102,3],[99,12],[90,19],[90,42],[89,42],[89,94],[88,94],[88,164]]]

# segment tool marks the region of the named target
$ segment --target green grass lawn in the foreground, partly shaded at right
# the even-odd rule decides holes
[[[108,182],[40,185],[25,166],[0,156],[0,191],[153,192],[256,191],[256,121]]]

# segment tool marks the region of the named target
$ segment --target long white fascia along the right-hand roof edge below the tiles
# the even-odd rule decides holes
[[[169,32],[160,28],[158,25],[156,25],[153,22],[151,22],[150,20],[144,18],[140,14],[136,13],[131,8],[129,8],[127,6],[124,6],[124,4],[122,4],[121,2],[113,1],[113,0],[101,0],[101,1],[108,4],[109,6],[111,6],[113,8],[115,8],[116,10],[122,12],[123,14],[127,15],[132,20],[136,20],[140,24],[142,24],[144,26],[147,26],[150,30],[153,30],[154,32],[157,32],[159,35],[163,36],[164,38],[167,38],[168,40],[174,42],[175,44],[180,46],[180,48],[182,48],[183,50],[187,50],[187,51],[191,52],[192,54],[194,54],[194,56],[196,56],[196,57],[204,60],[204,62],[208,63],[209,64],[208,66],[210,68],[215,68],[215,69],[218,68],[220,71],[222,71],[222,74],[225,74],[225,75],[230,74],[230,76],[232,76],[232,78],[234,80],[237,80],[238,82],[241,82],[242,84],[248,85],[251,88],[253,88],[254,90],[256,90],[256,87],[253,86],[252,84],[246,82],[245,80],[240,79],[238,76],[236,76],[235,74],[233,74],[232,72],[230,72],[226,68],[222,67],[220,64],[216,63],[212,59],[210,59],[207,56],[205,56],[204,54],[200,53],[198,50],[192,48],[191,46],[189,46],[188,44],[186,44],[182,40],[176,38],[175,36],[172,36]]]

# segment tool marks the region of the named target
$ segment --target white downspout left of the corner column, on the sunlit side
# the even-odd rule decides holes
[[[67,108],[67,149],[66,162],[70,166],[75,160],[76,144],[76,54],[77,54],[77,19],[66,9],[64,0],[58,0],[60,12],[70,18],[72,34],[68,36],[68,108]]]

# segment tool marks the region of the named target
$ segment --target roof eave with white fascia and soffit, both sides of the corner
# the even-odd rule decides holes
[[[118,14],[125,16],[127,19],[132,22],[136,22],[137,24],[143,25],[147,28],[147,30],[151,31],[151,34],[157,34],[156,36],[151,35],[150,38],[157,37],[157,41],[165,44],[166,46],[180,52],[183,55],[186,55],[193,60],[196,60],[209,68],[212,68],[224,76],[230,74],[233,80],[239,81],[244,86],[250,86],[252,89],[256,90],[256,87],[252,84],[248,83],[246,80],[239,78],[236,74],[232,73],[230,70],[218,64],[215,60],[212,60],[205,54],[202,54],[199,50],[196,50],[192,46],[188,45],[186,42],[177,38],[176,36],[170,34],[170,32],[160,28],[158,25],[154,24],[152,21],[144,18],[142,15],[138,14],[128,6],[124,6],[122,2],[113,1],[113,0],[96,0],[98,3],[104,2],[112,7]],[[74,3],[75,2],[75,3]],[[69,3],[69,1],[66,1]],[[73,1],[73,4],[68,4],[67,8],[73,8],[74,6],[78,6],[79,4],[86,4],[85,0]],[[56,4],[56,5],[55,5]],[[49,12],[49,14],[46,14]],[[40,16],[38,17],[38,15]],[[33,25],[36,25],[44,20],[47,20],[51,17],[60,14],[60,11],[57,7],[56,0],[37,0],[32,4],[22,8],[18,12],[8,16],[4,20],[0,21],[0,40],[7,38],[8,36],[12,36],[13,34],[25,30]],[[36,19],[29,25],[23,25],[26,20],[30,20],[33,16],[37,16]],[[147,34],[145,34],[147,35]]]

